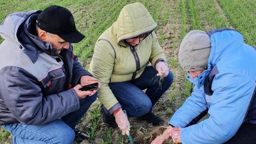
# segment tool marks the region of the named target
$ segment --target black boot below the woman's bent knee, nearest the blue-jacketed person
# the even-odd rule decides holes
[[[147,113],[143,116],[138,117],[139,120],[146,120],[148,123],[152,123],[154,126],[165,123],[161,118],[156,116],[154,113]]]

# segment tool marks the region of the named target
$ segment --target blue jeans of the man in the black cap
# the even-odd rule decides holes
[[[80,100],[79,110],[44,125],[15,123],[2,127],[13,134],[13,144],[72,144],[75,126],[96,100],[97,93]]]

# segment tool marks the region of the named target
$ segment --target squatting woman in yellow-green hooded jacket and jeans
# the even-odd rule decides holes
[[[103,121],[120,127],[123,134],[129,133],[127,115],[153,125],[163,123],[153,114],[153,106],[171,86],[173,75],[157,41],[156,28],[143,4],[128,4],[95,44],[89,72],[102,84],[98,97],[104,105]]]

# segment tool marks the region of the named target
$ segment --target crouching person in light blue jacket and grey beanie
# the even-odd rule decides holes
[[[170,136],[184,144],[256,142],[256,47],[233,29],[193,30],[180,45],[179,62],[195,87],[152,144]]]

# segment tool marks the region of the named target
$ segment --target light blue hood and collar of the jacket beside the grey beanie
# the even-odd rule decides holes
[[[188,73],[187,79],[194,83],[198,88],[204,85],[205,80],[215,64],[230,52],[236,50],[244,44],[244,39],[241,33],[229,28],[215,29],[208,31],[207,34],[211,39],[211,52],[208,58],[208,68],[197,78],[192,79]]]

